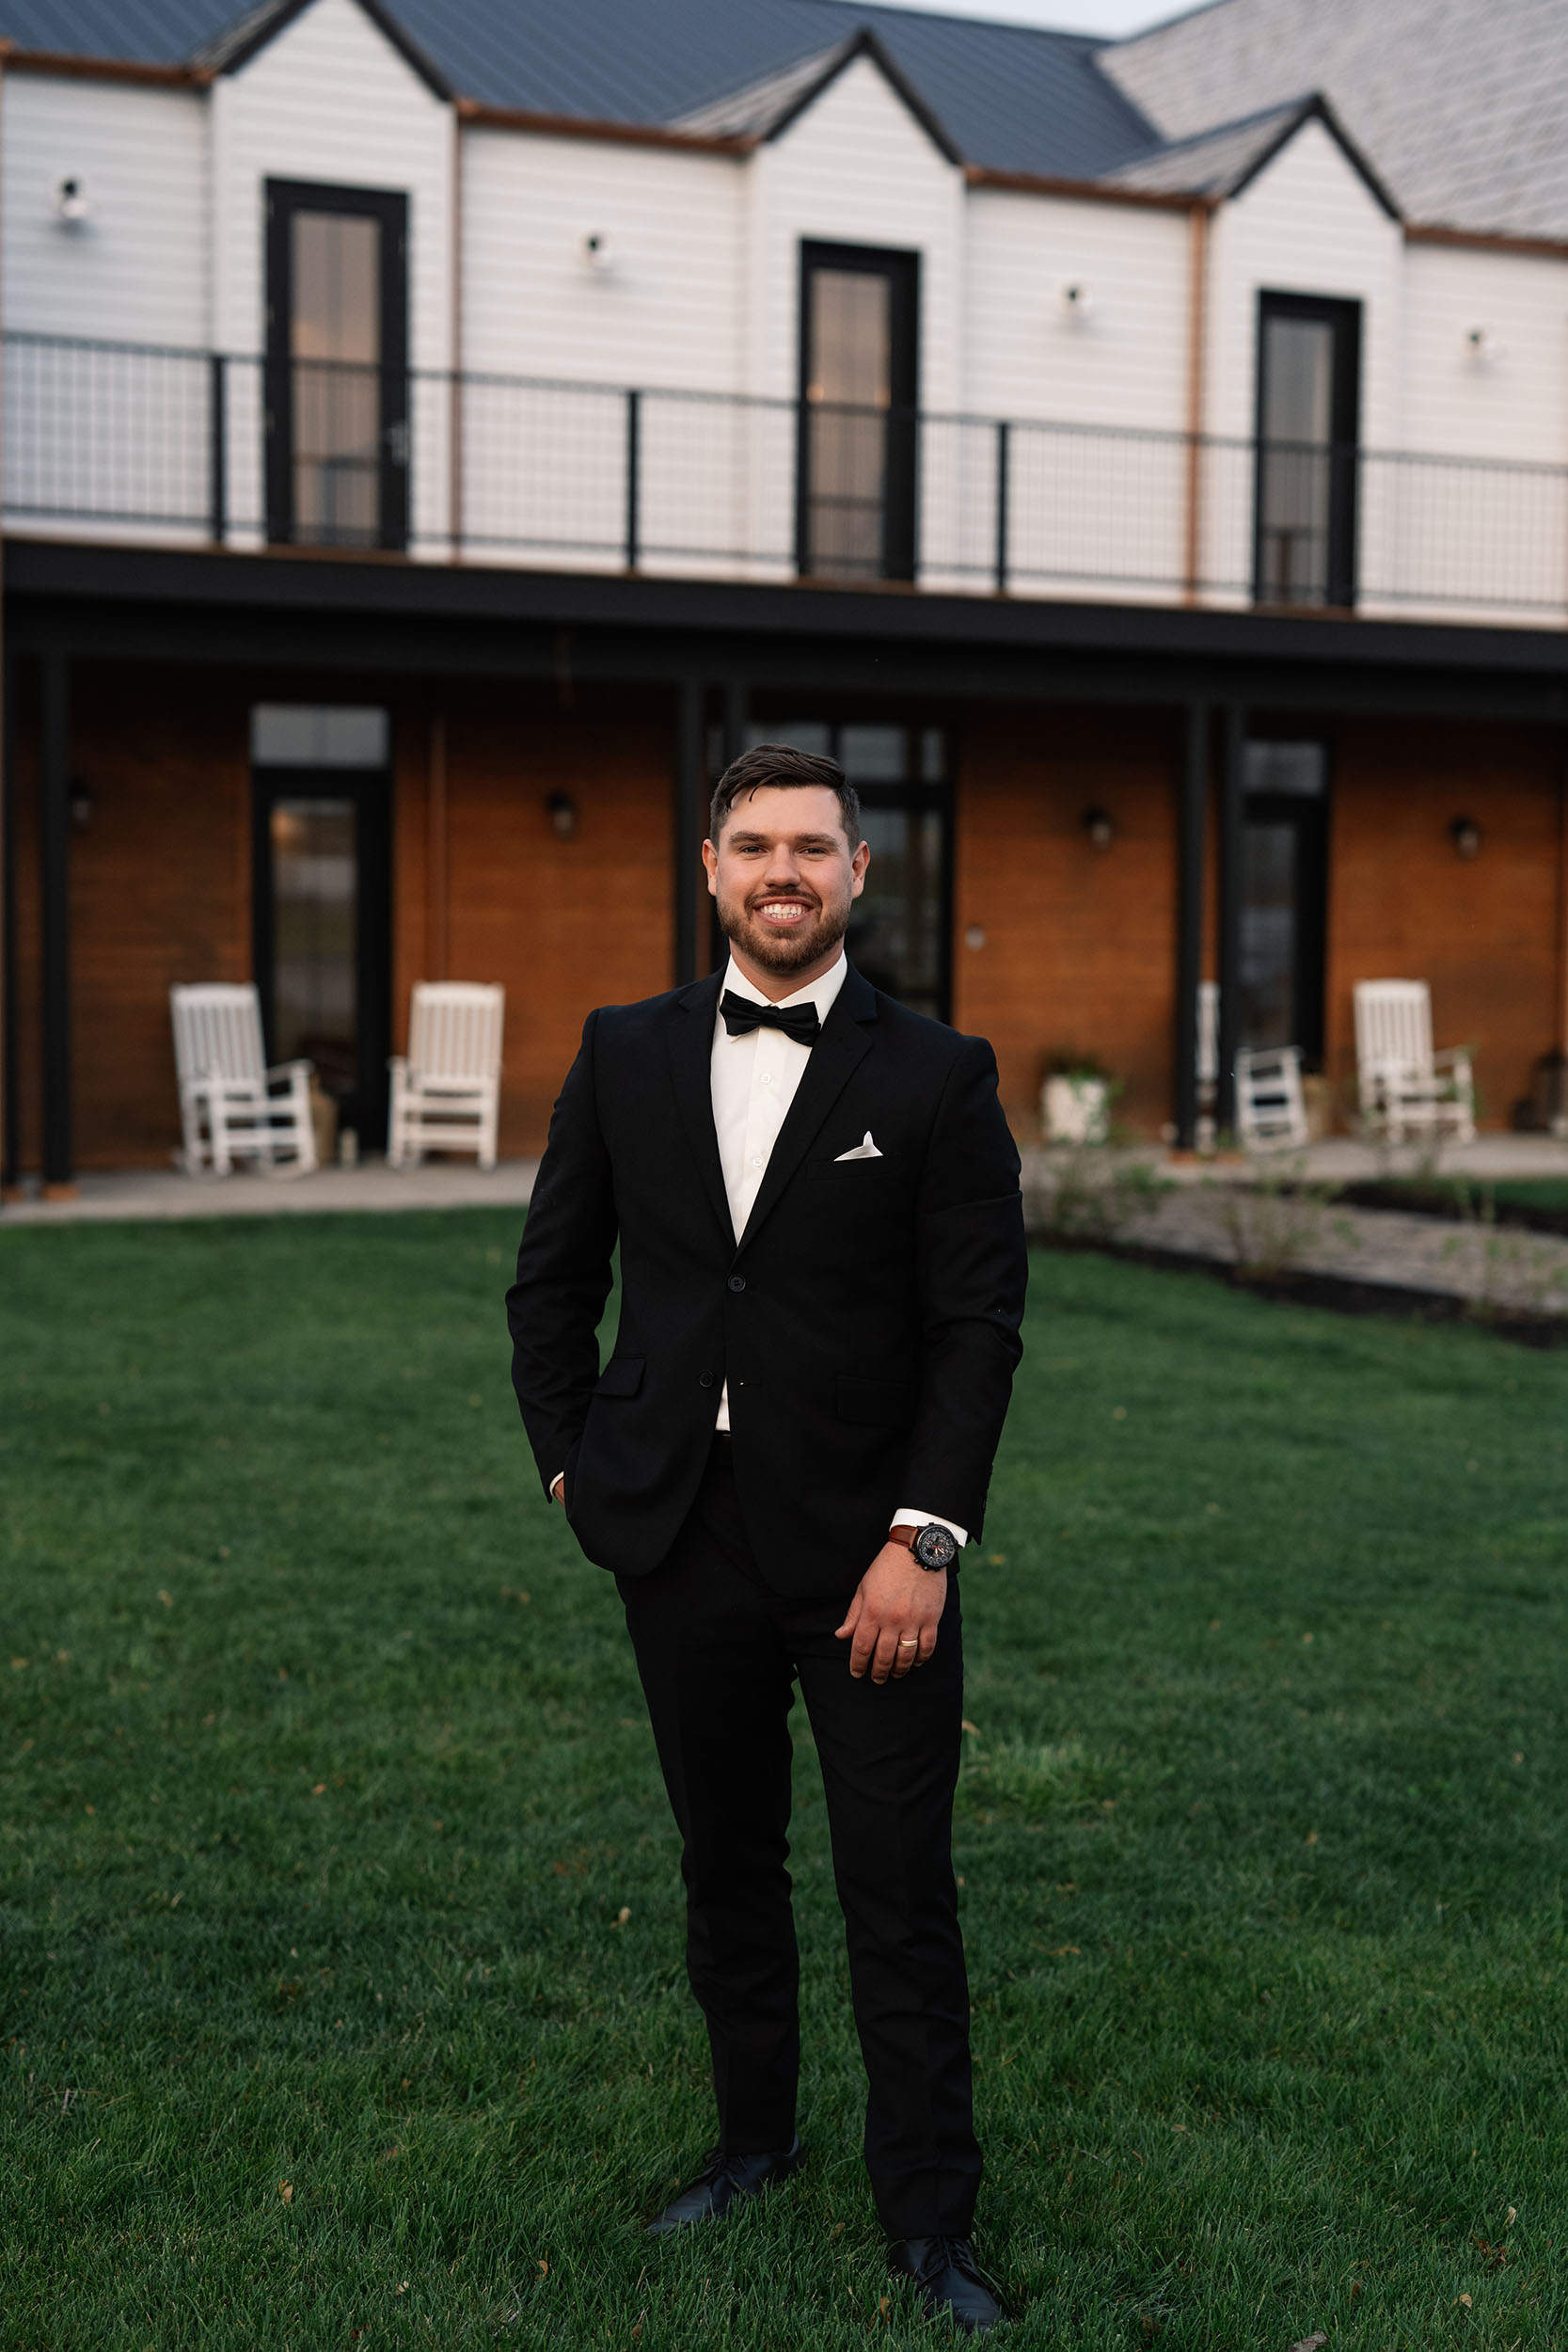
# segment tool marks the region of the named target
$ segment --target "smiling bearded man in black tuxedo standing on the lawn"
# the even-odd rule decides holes
[[[684,1839],[719,2145],[649,2227],[710,2227],[799,2164],[799,1679],[891,2265],[985,2333],[954,1569],[1020,1355],[1023,1204],[990,1047],[844,957],[858,818],[837,762],[783,743],[722,776],[703,861],[729,967],[588,1016],[508,1294],[512,1381],[545,1491],[616,1576]]]

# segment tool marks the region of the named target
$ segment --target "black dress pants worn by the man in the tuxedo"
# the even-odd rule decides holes
[[[844,1602],[764,1585],[731,1449],[651,1576],[618,1578],[686,1882],[686,1971],[708,2018],[719,2145],[795,2138],[799,1959],[785,1870],[799,1679],[823,1766],[856,2027],[865,2166],[891,2237],[966,2237],[980,2185],[969,1983],[952,1879],[964,1646],[957,1578],[936,1656],[856,1682]]]

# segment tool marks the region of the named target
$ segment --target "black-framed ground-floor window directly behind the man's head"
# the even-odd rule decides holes
[[[952,1016],[952,731],[922,720],[778,715],[750,720],[752,743],[827,753],[860,795],[872,863],[853,903],[849,960],[933,1021]],[[719,953],[724,941],[715,941]]]

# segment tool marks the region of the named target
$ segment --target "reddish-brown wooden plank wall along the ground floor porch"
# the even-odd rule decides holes
[[[249,706],[320,694],[306,677],[75,673],[71,760],[92,793],[92,821],[71,837],[85,1169],[167,1164],[179,1141],[169,983],[252,969]],[[376,701],[386,684],[334,677],[331,696]],[[976,706],[957,727],[954,1021],[994,1042],[1020,1138],[1039,1134],[1041,1068],[1065,1049],[1098,1054],[1121,1080],[1124,1122],[1157,1136],[1171,1117],[1178,720],[1018,703]],[[672,696],[411,682],[393,699],[393,734],[395,1037],[414,981],[503,981],[501,1145],[538,1150],[588,1009],[672,978]],[[1373,720],[1338,720],[1328,736],[1326,1047],[1340,1105],[1354,1091],[1352,983],[1413,976],[1432,983],[1439,1042],[1476,1047],[1483,1117],[1502,1127],[1535,1058],[1561,1042],[1561,743],[1544,729]],[[35,1167],[26,666],[16,781],[21,1160]],[[550,823],[552,793],[574,802],[569,840]],[[1117,826],[1107,851],[1084,835],[1088,807]],[[1453,851],[1455,816],[1481,826],[1474,861]]]

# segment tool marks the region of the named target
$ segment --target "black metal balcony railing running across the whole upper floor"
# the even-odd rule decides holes
[[[1568,468],[12,332],[7,532],[1561,628]]]

